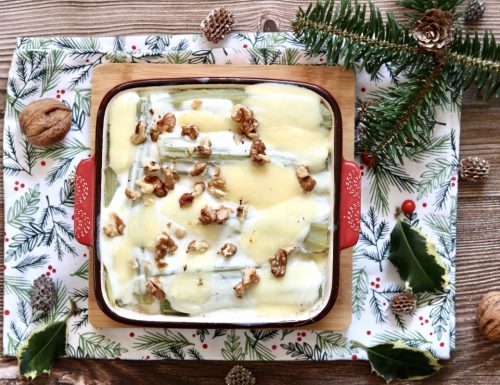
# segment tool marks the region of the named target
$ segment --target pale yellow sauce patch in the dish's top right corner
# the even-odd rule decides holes
[[[316,131],[321,124],[321,98],[313,91],[269,83],[247,86],[245,91],[249,96],[243,104],[253,110],[262,135],[278,126]]]

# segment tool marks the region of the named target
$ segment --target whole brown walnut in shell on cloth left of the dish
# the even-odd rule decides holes
[[[19,115],[21,131],[35,146],[48,147],[64,139],[71,128],[71,108],[56,99],[31,102]]]

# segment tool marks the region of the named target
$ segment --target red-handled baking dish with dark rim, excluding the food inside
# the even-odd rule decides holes
[[[142,315],[137,313],[131,315],[112,306],[105,286],[105,267],[101,262],[99,247],[99,218],[101,210],[101,175],[104,163],[104,133],[105,114],[108,104],[118,94],[134,89],[148,89],[153,87],[185,87],[185,86],[246,86],[261,83],[277,83],[283,85],[295,85],[306,88],[318,94],[330,107],[333,114],[333,147],[331,151],[331,161],[333,170],[333,207],[331,227],[332,270],[327,272],[331,275],[331,290],[327,293],[324,305],[313,316],[307,319],[272,319],[271,321],[249,320],[241,322],[234,321],[232,317],[221,319],[207,319],[203,317],[191,316],[164,316],[164,315]],[[339,289],[339,258],[342,249],[353,246],[358,240],[360,221],[360,170],[359,167],[350,161],[346,161],[342,156],[342,119],[341,111],[334,97],[325,89],[318,85],[270,79],[256,78],[183,78],[183,79],[149,79],[138,80],[120,84],[111,89],[103,98],[99,106],[96,122],[95,153],[89,158],[80,162],[76,169],[75,176],[75,236],[78,242],[93,249],[93,273],[94,291],[97,302],[102,311],[111,319],[137,326],[154,327],[178,327],[178,328],[290,328],[317,322],[330,312],[338,294]]]

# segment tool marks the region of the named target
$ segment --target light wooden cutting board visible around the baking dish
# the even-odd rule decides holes
[[[92,73],[91,147],[97,109],[104,95],[116,85],[139,79],[186,77],[252,77],[295,80],[317,84],[330,91],[342,113],[344,157],[353,159],[354,152],[354,72],[341,67],[326,66],[240,66],[240,65],[179,65],[179,64],[103,64]],[[108,318],[99,308],[94,295],[92,255],[89,266],[89,320],[95,327],[119,328],[127,325]],[[332,311],[321,321],[303,329],[344,330],[352,315],[352,249],[340,256],[340,287]]]

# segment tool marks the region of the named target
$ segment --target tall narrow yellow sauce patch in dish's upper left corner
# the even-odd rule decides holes
[[[125,92],[118,95],[108,108],[109,165],[116,173],[126,171],[132,165],[136,146],[130,142],[137,124],[139,95]]]

